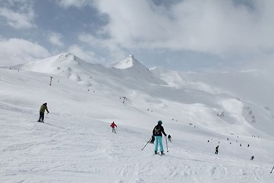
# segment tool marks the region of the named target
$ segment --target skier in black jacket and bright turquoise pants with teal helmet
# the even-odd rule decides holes
[[[158,121],[158,125],[155,125],[155,127],[153,128],[153,136],[155,137],[155,154],[157,154],[158,151],[158,144],[160,145],[161,154],[164,154],[164,147],[162,145],[162,134],[166,136],[166,133],[164,132],[164,127],[162,127],[162,121],[160,120]]]

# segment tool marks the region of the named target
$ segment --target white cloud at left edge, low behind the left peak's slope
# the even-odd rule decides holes
[[[11,38],[0,41],[0,66],[12,66],[50,56],[44,47],[28,40]]]

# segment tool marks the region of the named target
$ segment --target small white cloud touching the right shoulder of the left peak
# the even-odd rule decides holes
[[[86,62],[97,61],[97,58],[95,57],[95,53],[93,53],[92,51],[86,51],[82,49],[82,47],[79,47],[78,45],[71,45],[67,51],[81,58],[82,60]]]

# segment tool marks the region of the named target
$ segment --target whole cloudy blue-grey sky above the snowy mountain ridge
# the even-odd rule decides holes
[[[272,0],[0,0],[0,66],[62,52],[179,71],[269,67]]]

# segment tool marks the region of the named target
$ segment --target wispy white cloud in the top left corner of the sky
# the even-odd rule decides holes
[[[0,5],[0,23],[2,21],[15,29],[28,29],[35,26],[32,3],[10,0]]]

